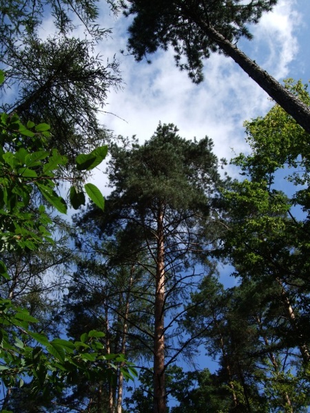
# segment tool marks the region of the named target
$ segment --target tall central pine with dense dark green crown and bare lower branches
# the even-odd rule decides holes
[[[219,231],[218,188],[226,180],[220,178],[221,162],[212,149],[209,138],[186,140],[178,136],[172,124],[158,125],[154,136],[143,145],[134,139],[123,139],[123,146],[112,142],[108,173],[114,190],[106,200],[107,213],[102,215],[90,206],[76,219],[83,231],[77,245],[88,260],[96,260],[96,264],[82,266],[80,276],[84,277],[86,270],[94,277],[95,269],[96,286],[103,291],[102,295],[96,295],[97,288],[95,294],[87,292],[87,299],[95,304],[96,317],[98,308],[104,305],[116,313],[110,320],[123,317],[119,306],[109,304],[109,294],[126,290],[128,283],[110,289],[111,275],[117,274],[112,279],[114,286],[124,272],[121,268],[127,268],[127,274],[132,268],[130,315],[125,319],[130,326],[128,337],[130,343],[132,336],[140,341],[143,355],[154,359],[154,405],[160,404],[156,400],[161,401],[161,407],[157,407],[160,412],[165,411],[165,388],[158,385],[159,380],[186,347],[178,343],[176,320],[198,278],[196,264],[203,262],[213,269],[209,250]],[[106,317],[104,313],[101,319]],[[167,324],[165,317],[170,317]],[[165,344],[158,345],[163,337]],[[158,396],[156,388],[161,391]]]

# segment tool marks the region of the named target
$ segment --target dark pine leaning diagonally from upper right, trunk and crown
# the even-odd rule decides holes
[[[187,70],[196,83],[203,80],[203,59],[219,52],[230,56],[304,130],[310,132],[310,109],[276,79],[241,52],[236,43],[251,39],[247,24],[258,23],[276,0],[232,1],[121,1],[127,16],[134,19],[129,28],[128,49],[137,61],[159,47],[174,47],[176,65]],[[187,62],[183,63],[185,55]]]

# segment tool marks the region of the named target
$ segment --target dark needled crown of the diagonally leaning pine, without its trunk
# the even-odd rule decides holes
[[[167,50],[172,45],[176,65],[180,70],[187,70],[196,83],[203,81],[203,59],[213,52],[221,52],[205,26],[214,28],[231,43],[242,36],[251,39],[249,23],[258,23],[262,12],[271,10],[276,2],[160,0],[151,4],[147,0],[121,1],[125,14],[134,17],[129,28],[128,48],[136,60],[141,61],[159,47]]]

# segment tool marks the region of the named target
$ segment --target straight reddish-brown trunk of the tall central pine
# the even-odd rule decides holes
[[[154,310],[154,413],[166,412],[165,394],[165,244],[163,231],[163,206],[157,215],[157,262]]]

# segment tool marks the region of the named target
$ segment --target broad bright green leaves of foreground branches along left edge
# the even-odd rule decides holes
[[[3,81],[3,72],[0,75]],[[33,199],[37,194],[42,195],[39,200],[66,213],[68,206],[56,187],[62,179],[60,167],[67,158],[56,149],[45,149],[45,139],[50,138],[50,127],[45,123],[35,125],[29,121],[25,126],[17,114],[1,114],[0,128],[0,248],[3,252],[38,251],[43,242],[53,242],[48,230],[52,221],[45,206],[37,207]],[[76,169],[90,171],[106,154],[107,147],[81,154],[76,158]],[[85,204],[85,193],[76,189],[77,184],[79,182],[72,182],[70,189],[74,209]],[[84,189],[102,210],[104,198],[99,189],[91,183],[85,184]],[[3,282],[10,279],[1,261],[0,273]],[[92,330],[75,342],[50,341],[43,333],[32,331],[32,323],[37,322],[25,308],[14,306],[10,299],[0,298],[0,370],[6,388],[22,386],[25,380],[32,395],[43,391],[48,399],[66,383],[73,383],[80,374],[89,380],[106,380],[113,371],[112,361],[124,362],[123,356],[103,354],[103,332]],[[125,378],[131,377],[131,373],[134,373],[132,368],[123,368]],[[3,408],[5,406],[6,401]]]

